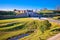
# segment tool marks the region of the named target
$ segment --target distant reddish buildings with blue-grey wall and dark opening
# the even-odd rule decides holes
[[[14,10],[17,15],[20,16],[28,16],[28,17],[37,17],[38,14],[34,12],[34,10]]]

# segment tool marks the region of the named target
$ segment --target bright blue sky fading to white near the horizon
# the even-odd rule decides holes
[[[0,0],[0,10],[55,9],[60,0]]]

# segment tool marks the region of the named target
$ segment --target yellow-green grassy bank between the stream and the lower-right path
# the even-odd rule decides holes
[[[60,33],[60,31],[59,31],[60,30],[60,25],[57,25],[57,23],[51,22],[50,29],[45,30],[43,33],[39,28],[40,24],[42,24],[42,23],[37,21],[36,25],[37,25],[38,28],[36,29],[36,31],[29,36],[21,38],[20,40],[47,40],[48,38],[52,37],[53,35],[56,35],[57,33]]]

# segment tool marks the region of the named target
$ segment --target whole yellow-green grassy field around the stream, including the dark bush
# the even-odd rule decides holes
[[[55,25],[54,25],[55,24]],[[19,40],[46,40],[59,33],[60,25],[49,23],[47,20],[34,20],[31,18],[16,18],[0,20],[0,40],[7,40],[13,36],[34,31],[29,36]]]

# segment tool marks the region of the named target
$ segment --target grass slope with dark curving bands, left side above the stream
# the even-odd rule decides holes
[[[25,28],[26,24],[31,22],[32,19],[29,18],[18,18],[18,19],[10,19],[10,20],[0,20],[0,40],[6,40],[9,37],[13,37],[22,33],[26,33],[28,30]],[[16,24],[9,25],[8,23],[16,22]],[[11,23],[12,24],[12,23]],[[23,28],[24,27],[24,28]]]

